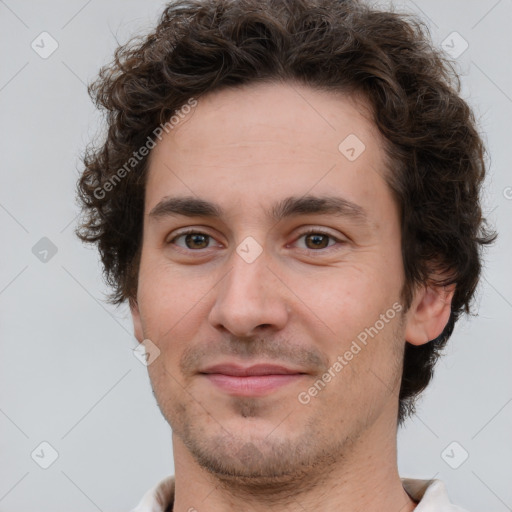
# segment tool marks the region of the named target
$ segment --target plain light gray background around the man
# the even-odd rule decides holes
[[[400,473],[442,479],[471,512],[512,510],[512,0],[394,5],[420,14],[436,43],[453,31],[469,43],[457,62],[488,141],[485,208],[500,233],[478,317],[458,324],[418,415],[399,433]],[[0,0],[2,512],[127,511],[174,471],[170,429],[132,353],[128,309],[103,302],[97,253],[73,235],[79,157],[99,122],[86,84],[116,38],[147,32],[163,6]],[[47,59],[31,48],[43,31],[59,45]],[[43,237],[57,248],[46,263],[32,252]],[[59,454],[48,469],[31,458],[43,441]],[[469,453],[458,469],[441,456],[453,441]]]

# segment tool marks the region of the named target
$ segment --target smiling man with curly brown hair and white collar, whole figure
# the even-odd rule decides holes
[[[178,1],[103,68],[77,233],[173,432],[138,512],[461,510],[396,462],[494,238],[456,85],[341,0]]]

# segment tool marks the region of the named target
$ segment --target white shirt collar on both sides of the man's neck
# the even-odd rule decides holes
[[[407,494],[417,502],[415,512],[466,512],[453,505],[441,480],[401,478]],[[172,512],[174,502],[174,477],[168,476],[146,492],[131,512]]]

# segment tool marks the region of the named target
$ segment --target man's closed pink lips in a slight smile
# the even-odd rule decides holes
[[[264,396],[306,375],[300,370],[273,364],[249,367],[219,364],[201,371],[200,374],[217,388],[236,396]]]

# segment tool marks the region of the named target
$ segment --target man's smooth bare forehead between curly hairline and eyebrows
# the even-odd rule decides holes
[[[386,194],[385,160],[361,97],[295,83],[222,89],[199,98],[152,150],[146,214],[180,194],[256,209],[309,192],[371,202]]]

